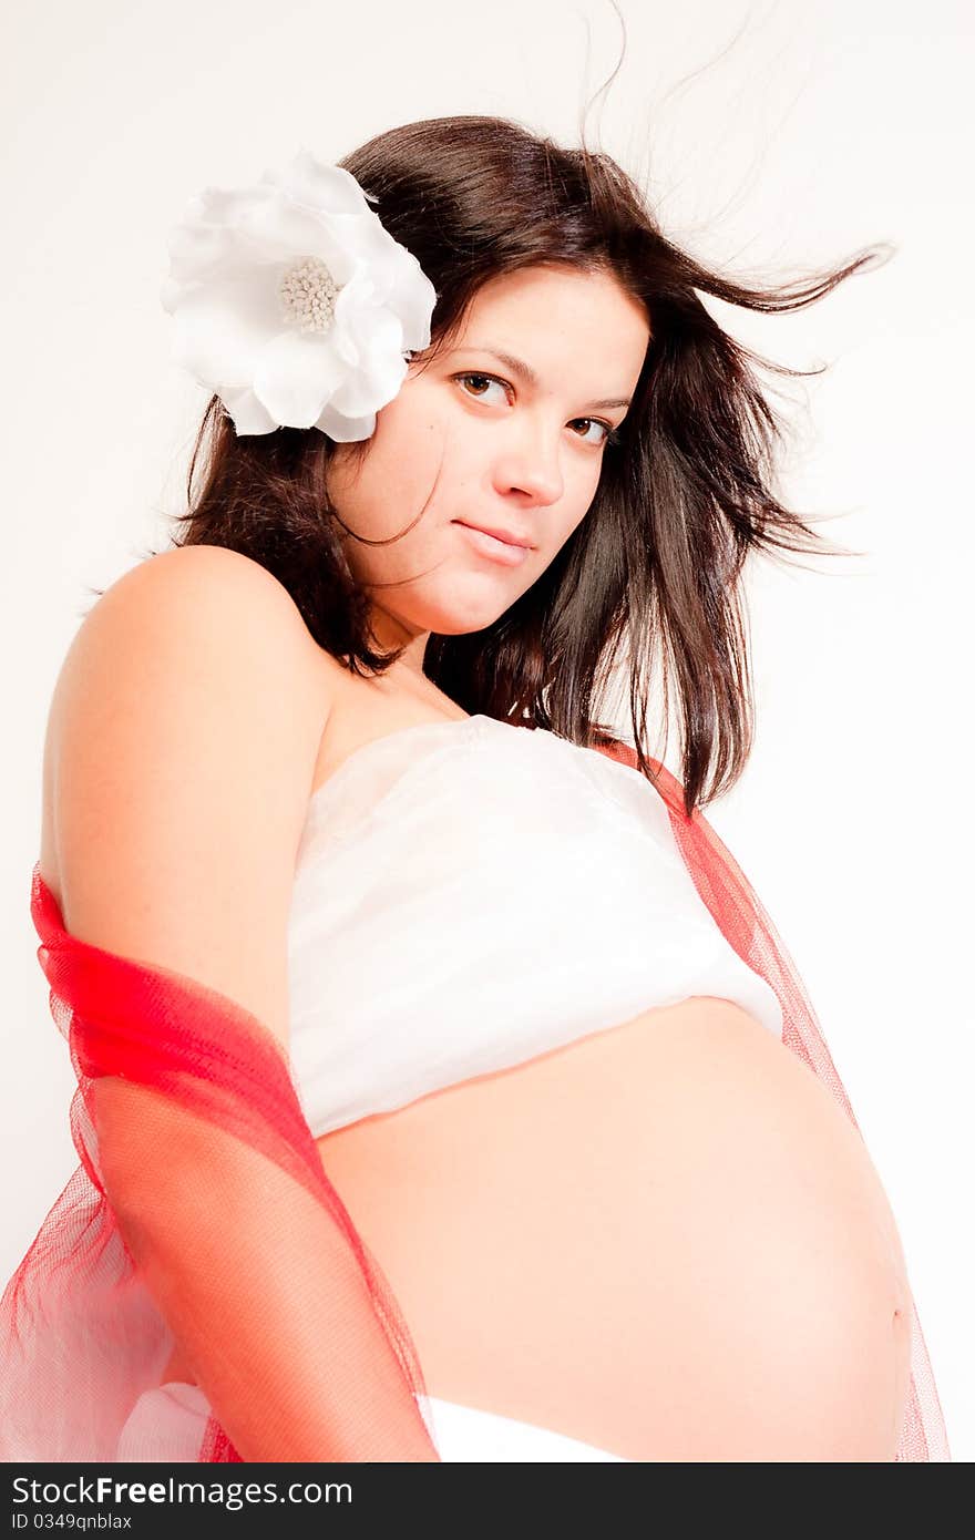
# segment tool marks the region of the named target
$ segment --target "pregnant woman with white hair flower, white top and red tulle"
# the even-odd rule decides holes
[[[82,1164],[5,1294],[5,1457],[949,1458],[701,813],[749,752],[744,559],[819,537],[698,293],[789,311],[869,256],[744,288],[608,157],[462,117],[208,188],[171,259],[211,400],[51,707]]]

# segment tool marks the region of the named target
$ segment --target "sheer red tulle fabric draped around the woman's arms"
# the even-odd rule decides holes
[[[618,739],[596,750],[636,767],[635,750]],[[678,781],[652,764],[698,892],[732,947],[778,995],[784,1044],[858,1129],[772,921],[707,819],[699,812],[685,816]],[[437,1460],[410,1332],[322,1169],[276,1038],[197,981],[69,935],[39,867],[31,915],[51,1012],[79,1081],[71,1130],[80,1164],[0,1303],[0,1457],[111,1461],[139,1395],[159,1386],[179,1331],[180,1344],[203,1340],[194,1332],[265,1344],[263,1357],[254,1349],[253,1375],[237,1384],[230,1369],[222,1377],[219,1354],[206,1358],[211,1415],[197,1460]],[[160,1192],[180,1214],[173,1221],[174,1255],[180,1246],[188,1255],[186,1237],[194,1237],[200,1272],[209,1269],[217,1284],[203,1306],[173,1295],[160,1303],[162,1289],[151,1287],[140,1266],[139,1226],[126,1227],[112,1210],[112,1183],[99,1155],[99,1113],[103,1118],[111,1101],[99,1087],[117,1093],[126,1126],[139,1130],[131,1160],[146,1195],[154,1173],[173,1169],[180,1146],[182,1169],[186,1152],[205,1150],[205,1192],[188,1183],[185,1201],[174,1200],[160,1175]],[[231,1230],[236,1260],[222,1269],[220,1238]],[[251,1232],[254,1257],[280,1258],[280,1294],[263,1275],[260,1287],[246,1270],[242,1275],[242,1230]],[[206,1320],[197,1320],[200,1314]],[[286,1321],[294,1331],[283,1329]],[[950,1460],[913,1301],[910,1327],[910,1392],[896,1460]]]

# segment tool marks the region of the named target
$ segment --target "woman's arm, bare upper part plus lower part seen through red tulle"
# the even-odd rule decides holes
[[[219,992],[286,1053],[297,842],[328,713],[314,644],[246,557],[196,547],[120,579],[51,716],[66,930]],[[105,1190],[243,1460],[433,1460],[347,1234],[179,1086],[94,1083]]]

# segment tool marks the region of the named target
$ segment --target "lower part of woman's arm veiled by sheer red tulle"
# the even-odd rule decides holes
[[[99,1087],[119,1227],[240,1458],[436,1458],[322,1204],[168,1098]]]

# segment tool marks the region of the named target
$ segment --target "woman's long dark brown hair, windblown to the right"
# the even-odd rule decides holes
[[[659,658],[664,732],[676,695],[690,813],[738,779],[752,747],[745,556],[753,548],[849,554],[772,491],[782,425],[753,367],[818,371],[745,348],[699,293],[745,310],[795,311],[876,265],[884,248],[792,285],[745,286],[667,240],[610,156],[561,148],[498,117],[407,123],[340,165],[437,291],[431,351],[453,339],[482,283],[538,263],[608,271],[645,305],[650,346],[585,517],[494,624],[431,634],[424,673],[470,713],[591,745],[605,733],[593,701],[622,648],[633,742],[650,773],[647,695]],[[348,448],[367,454],[368,440]],[[316,430],[237,437],[214,396],[189,465],[189,511],[177,517],[173,544],[226,545],[260,562],[288,588],[320,647],[356,673],[382,673],[400,650],[371,647],[371,601],[348,567],[345,531],[325,490],[333,451]]]

